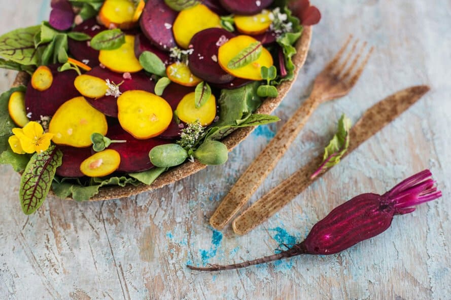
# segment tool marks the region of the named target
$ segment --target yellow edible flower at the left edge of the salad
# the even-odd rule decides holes
[[[46,151],[53,137],[53,133],[44,133],[44,129],[38,122],[28,122],[23,128],[14,128],[13,133],[20,141],[22,151],[25,153],[42,153]],[[13,147],[15,141],[14,136],[11,137],[13,144],[10,142],[10,146],[15,152]],[[15,148],[18,149],[17,146]]]

